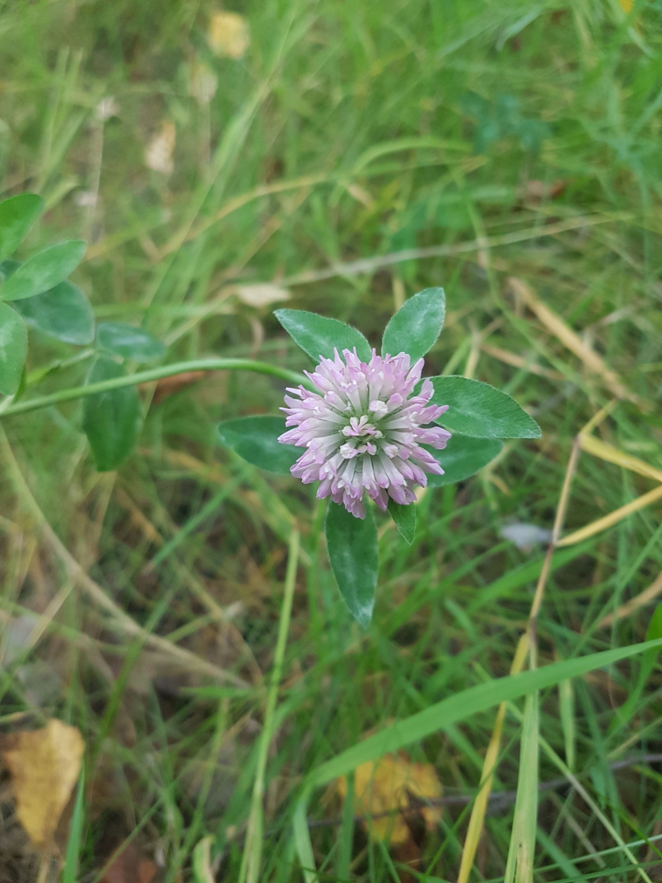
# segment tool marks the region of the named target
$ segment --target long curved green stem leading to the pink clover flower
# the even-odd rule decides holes
[[[250,358],[193,358],[188,362],[175,362],[173,365],[149,368],[147,371],[138,371],[136,374],[129,374],[125,377],[112,377],[107,381],[88,383],[87,386],[61,389],[49,396],[38,396],[27,399],[26,402],[10,404],[4,409],[0,406],[0,416],[6,417],[10,414],[37,411],[40,408],[48,408],[51,404],[71,402],[74,398],[94,396],[100,392],[109,392],[110,389],[121,389],[127,386],[137,386],[139,383],[160,381],[164,377],[185,374],[189,371],[256,371],[258,374],[270,374],[272,377],[279,377],[297,385],[299,383],[308,385],[305,377],[297,374],[296,371],[290,371],[288,368],[281,368],[277,365],[269,365],[267,362],[253,361]]]

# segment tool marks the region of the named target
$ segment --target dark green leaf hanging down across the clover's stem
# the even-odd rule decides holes
[[[123,376],[123,366],[111,358],[99,358],[87,377],[87,383]],[[83,404],[83,429],[99,472],[117,469],[131,454],[141,426],[142,409],[135,387],[109,389],[87,396]]]

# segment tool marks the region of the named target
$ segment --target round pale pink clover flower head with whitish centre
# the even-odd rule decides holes
[[[344,359],[344,361],[343,361]],[[286,426],[278,441],[305,448],[290,472],[305,484],[320,481],[319,499],[330,496],[357,518],[365,517],[365,492],[386,509],[388,498],[414,502],[414,487],[427,485],[426,472],[443,475],[433,455],[421,445],[446,447],[450,433],[428,426],[448,405],[429,405],[433,383],[406,352],[362,362],[356,348],[320,356],[306,376],[317,390],[288,389]],[[293,396],[297,396],[294,398]]]

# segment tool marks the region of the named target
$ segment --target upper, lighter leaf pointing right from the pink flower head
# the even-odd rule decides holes
[[[448,404],[437,421],[451,432],[483,439],[538,439],[536,421],[515,399],[489,383],[467,377],[431,377],[434,386],[430,404]]]

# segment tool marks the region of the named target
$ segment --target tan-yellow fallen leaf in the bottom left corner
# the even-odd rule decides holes
[[[35,846],[47,846],[79,778],[83,737],[51,720],[43,729],[4,736],[3,746],[20,823]]]

